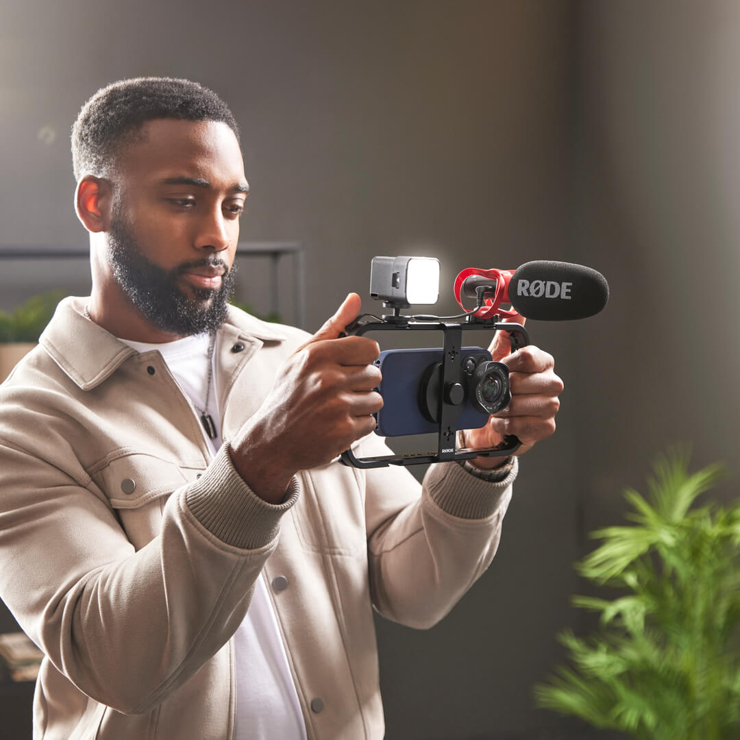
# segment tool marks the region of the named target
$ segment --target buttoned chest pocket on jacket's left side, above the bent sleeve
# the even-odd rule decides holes
[[[195,480],[198,472],[153,455],[131,453],[110,460],[91,477],[139,550],[159,534],[162,510],[172,491]]]

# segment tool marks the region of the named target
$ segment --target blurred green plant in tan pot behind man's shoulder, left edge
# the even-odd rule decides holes
[[[0,311],[0,383],[21,357],[36,346],[64,295],[60,290],[40,293],[11,312]]]

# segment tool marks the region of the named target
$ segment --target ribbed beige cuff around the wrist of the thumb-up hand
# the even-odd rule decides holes
[[[236,471],[229,444],[221,446],[203,475],[185,493],[193,516],[211,534],[244,550],[257,550],[277,536],[280,519],[297,501],[299,485],[293,478],[280,504],[260,499]]]

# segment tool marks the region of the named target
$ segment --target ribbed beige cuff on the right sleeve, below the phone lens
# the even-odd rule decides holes
[[[519,458],[514,457],[504,480],[486,482],[455,462],[438,462],[431,466],[424,482],[429,497],[443,511],[460,519],[485,519],[508,506],[518,471]]]

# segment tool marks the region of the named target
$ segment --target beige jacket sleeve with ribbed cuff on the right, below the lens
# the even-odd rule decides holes
[[[358,457],[389,454],[373,437]],[[429,628],[468,591],[496,554],[517,465],[501,482],[457,462],[431,465],[423,485],[397,465],[366,471],[371,596],[383,616]]]

